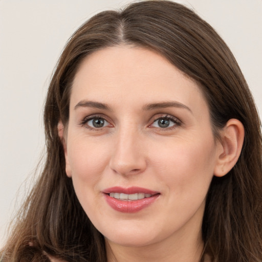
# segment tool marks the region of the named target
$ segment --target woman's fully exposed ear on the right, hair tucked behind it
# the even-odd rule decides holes
[[[237,119],[230,119],[220,133],[219,152],[214,176],[223,177],[236,164],[242,150],[245,130]]]

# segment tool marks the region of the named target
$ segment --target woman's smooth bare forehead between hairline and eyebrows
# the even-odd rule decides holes
[[[156,52],[133,46],[109,47],[86,57],[77,71],[72,104],[80,99],[110,103],[178,100],[206,104],[197,83]],[[198,105],[199,106],[199,105]]]

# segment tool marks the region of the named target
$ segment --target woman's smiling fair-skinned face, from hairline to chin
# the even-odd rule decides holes
[[[165,58],[131,46],[86,57],[64,138],[67,174],[109,243],[201,239],[218,142],[200,88]]]

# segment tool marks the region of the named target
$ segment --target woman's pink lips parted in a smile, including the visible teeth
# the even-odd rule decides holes
[[[141,187],[111,187],[103,190],[108,205],[119,212],[138,212],[159,197],[160,193]]]

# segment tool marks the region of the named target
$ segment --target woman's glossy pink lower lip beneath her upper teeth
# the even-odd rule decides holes
[[[132,201],[124,201],[110,197],[108,194],[104,194],[105,199],[108,205],[110,205],[113,209],[123,213],[135,213],[138,212],[152,203],[159,197],[159,194],[152,195],[150,198],[132,200]]]

